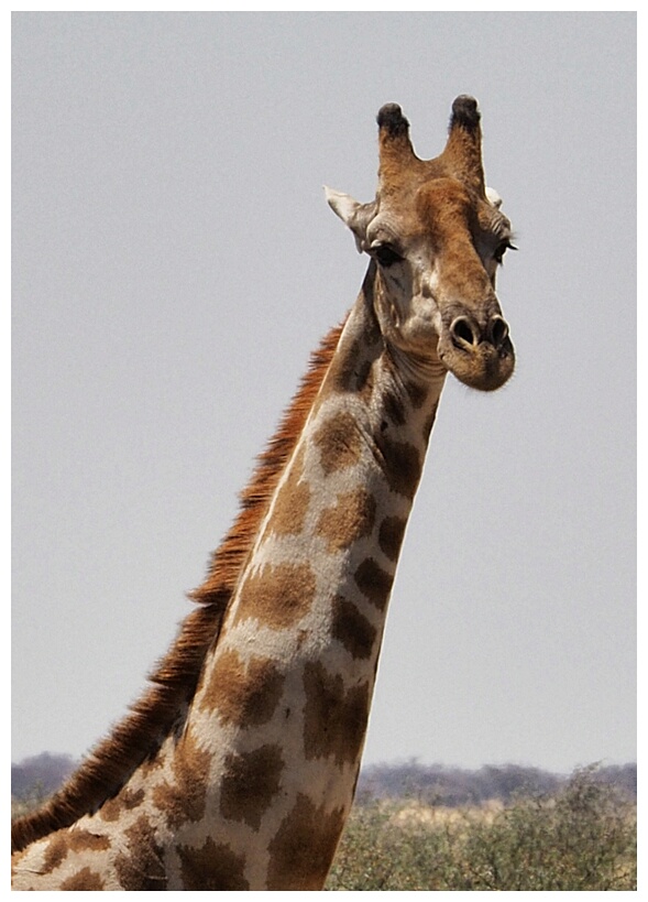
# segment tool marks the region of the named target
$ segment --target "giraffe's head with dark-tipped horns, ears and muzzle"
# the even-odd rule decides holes
[[[378,188],[369,204],[327,188],[334,213],[376,267],[375,306],[387,340],[417,360],[438,359],[458,379],[491,391],[515,352],[495,294],[510,243],[498,195],[486,188],[476,101],[458,97],[443,152],[419,160],[400,107],[377,116]]]

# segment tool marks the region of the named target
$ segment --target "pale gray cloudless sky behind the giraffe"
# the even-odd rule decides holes
[[[449,381],[365,762],[636,751],[634,13],[13,17],[13,760],[80,756],[189,609],[365,260],[375,115],[477,97],[517,372]]]

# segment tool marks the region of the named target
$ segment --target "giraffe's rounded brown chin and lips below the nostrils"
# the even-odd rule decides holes
[[[450,336],[443,336],[438,345],[439,359],[460,382],[477,391],[496,391],[512,377],[515,369],[515,351],[507,338],[499,348],[490,341],[470,347],[457,347]]]

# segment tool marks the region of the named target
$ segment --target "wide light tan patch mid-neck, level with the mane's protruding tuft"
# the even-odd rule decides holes
[[[308,564],[267,564],[243,583],[237,617],[254,618],[273,630],[293,627],[310,609],[315,588]]]

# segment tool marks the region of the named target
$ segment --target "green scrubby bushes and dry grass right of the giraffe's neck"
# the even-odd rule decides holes
[[[576,772],[480,807],[356,804],[328,890],[636,890],[636,804]]]

